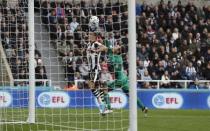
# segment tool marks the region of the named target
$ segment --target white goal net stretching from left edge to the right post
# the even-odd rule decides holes
[[[0,6],[0,130],[128,130],[128,97],[109,86],[117,68],[107,53],[120,47],[127,75],[126,0],[35,0],[35,123],[27,121],[33,99],[28,0]],[[91,16],[99,19],[97,32]]]

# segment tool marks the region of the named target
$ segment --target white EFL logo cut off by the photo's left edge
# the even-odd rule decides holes
[[[12,96],[8,92],[0,92],[0,108],[9,107],[12,103]]]

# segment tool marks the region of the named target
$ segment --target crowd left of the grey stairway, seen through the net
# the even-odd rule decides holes
[[[14,79],[29,78],[28,25],[25,11],[21,4],[15,7],[8,7],[7,3],[0,4],[1,43]],[[38,50],[35,51],[35,60],[36,79],[47,79]],[[28,80],[15,82],[18,86],[27,84]],[[36,85],[41,86],[43,82],[37,82]]]

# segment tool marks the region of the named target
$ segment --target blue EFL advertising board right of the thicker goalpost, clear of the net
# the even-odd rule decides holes
[[[210,109],[209,90],[143,90],[138,97],[152,109]]]

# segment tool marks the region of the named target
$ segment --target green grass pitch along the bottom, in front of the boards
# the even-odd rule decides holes
[[[26,120],[27,110],[4,110],[2,118]],[[2,131],[127,131],[128,110],[114,110],[102,117],[96,109],[37,109],[36,124],[1,124]],[[209,110],[138,111],[139,131],[209,131]]]

